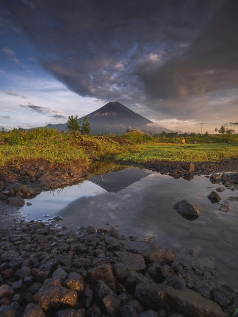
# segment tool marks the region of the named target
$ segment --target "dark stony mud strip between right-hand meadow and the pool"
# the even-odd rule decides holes
[[[169,161],[154,161],[146,163],[123,162],[123,164],[135,167],[146,168],[161,174],[169,174],[174,178],[183,177],[192,179],[195,175],[209,175],[211,173],[238,172],[238,157],[221,162],[169,162]],[[189,179],[190,178],[190,179]]]

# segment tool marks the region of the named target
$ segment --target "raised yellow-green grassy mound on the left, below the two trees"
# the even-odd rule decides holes
[[[34,160],[52,165],[80,164],[88,167],[92,159],[138,150],[136,145],[120,145],[108,137],[58,133],[52,129],[0,133],[0,168]]]

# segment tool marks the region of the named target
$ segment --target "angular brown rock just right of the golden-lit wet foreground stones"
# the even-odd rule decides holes
[[[113,291],[116,290],[114,276],[110,264],[102,264],[88,270],[87,283],[96,288],[99,280],[104,281]]]

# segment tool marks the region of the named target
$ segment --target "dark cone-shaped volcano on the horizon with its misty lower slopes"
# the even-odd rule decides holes
[[[87,114],[86,117],[90,122],[92,134],[123,134],[127,129],[138,129],[147,133],[175,132],[154,124],[144,116],[117,101],[108,102],[98,110]],[[79,118],[78,121],[82,123],[83,118]],[[58,125],[48,124],[47,127],[66,131],[66,123]]]

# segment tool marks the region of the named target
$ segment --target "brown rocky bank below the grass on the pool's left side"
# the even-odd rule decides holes
[[[88,168],[52,167],[47,161],[5,167],[0,170],[0,200],[22,207],[24,198],[31,199],[42,191],[73,185],[88,177]]]

